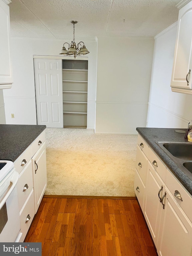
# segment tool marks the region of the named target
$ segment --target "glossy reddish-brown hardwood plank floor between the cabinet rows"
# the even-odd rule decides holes
[[[157,256],[137,200],[44,197],[24,242],[42,256]]]

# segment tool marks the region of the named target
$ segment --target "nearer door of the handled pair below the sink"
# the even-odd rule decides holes
[[[192,253],[192,223],[173,200],[167,190],[165,210],[161,221],[161,240],[157,248],[162,256],[191,256]]]

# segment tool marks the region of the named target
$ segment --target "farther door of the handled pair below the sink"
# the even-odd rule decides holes
[[[158,242],[159,225],[161,223],[161,214],[163,211],[163,205],[160,202],[159,196],[163,196],[164,188],[164,182],[158,175],[157,171],[153,168],[152,164],[149,162],[146,181],[144,216],[155,245],[157,245]]]

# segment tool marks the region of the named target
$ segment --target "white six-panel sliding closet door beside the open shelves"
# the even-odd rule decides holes
[[[63,128],[61,59],[34,59],[37,123]]]

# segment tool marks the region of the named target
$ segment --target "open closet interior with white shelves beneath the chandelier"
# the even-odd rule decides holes
[[[87,127],[87,67],[88,61],[63,60],[64,128]]]

